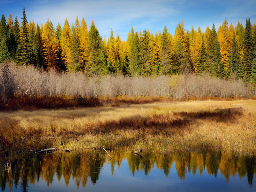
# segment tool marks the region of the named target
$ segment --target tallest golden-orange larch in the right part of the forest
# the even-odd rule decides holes
[[[220,42],[220,54],[221,63],[224,65],[224,72],[228,72],[228,57],[230,53],[230,37],[228,31],[227,18],[223,21],[222,26],[219,28],[219,42]]]

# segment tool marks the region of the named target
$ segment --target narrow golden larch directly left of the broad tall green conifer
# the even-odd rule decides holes
[[[81,48],[81,59],[82,62],[81,64],[85,66],[86,62],[88,61],[88,54],[87,54],[87,49],[88,49],[88,28],[87,24],[84,20],[84,17],[81,21],[81,26],[80,26],[80,32],[79,32],[79,44]]]

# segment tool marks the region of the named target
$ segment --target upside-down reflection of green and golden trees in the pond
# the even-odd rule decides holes
[[[234,178],[236,174],[240,178],[247,175],[249,187],[252,187],[253,174],[256,173],[256,158],[248,156],[231,156],[225,152],[212,154],[201,153],[143,153],[135,156],[133,153],[114,153],[110,152],[112,159],[108,158],[103,151],[88,151],[86,154],[56,153],[51,155],[34,156],[12,156],[12,173],[7,173],[5,161],[0,160],[0,187],[2,191],[8,185],[9,191],[14,184],[15,188],[20,183],[22,191],[27,191],[28,182],[34,185],[39,179],[45,180],[47,186],[52,184],[55,177],[60,181],[64,179],[68,186],[70,179],[76,183],[77,189],[80,185],[85,187],[88,177],[96,184],[99,179],[100,171],[105,166],[111,166],[112,174],[115,168],[120,167],[126,158],[132,175],[136,172],[150,174],[155,167],[168,177],[172,165],[175,168],[180,180],[185,181],[187,172],[193,175],[196,172],[202,174],[207,170],[209,175],[215,177],[220,172],[224,175],[227,183],[230,176]],[[2,159],[4,159],[2,157]],[[109,165],[108,165],[109,164]]]

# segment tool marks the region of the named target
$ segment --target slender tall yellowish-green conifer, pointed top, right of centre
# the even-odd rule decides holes
[[[161,66],[160,71],[163,74],[170,73],[171,66],[169,62],[170,42],[168,39],[168,30],[166,25],[164,26],[162,38],[161,38]]]

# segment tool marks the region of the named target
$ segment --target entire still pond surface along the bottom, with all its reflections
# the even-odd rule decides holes
[[[2,191],[256,191],[256,158],[217,153],[0,156]],[[7,158],[6,158],[7,157]],[[12,171],[6,170],[6,159]]]

